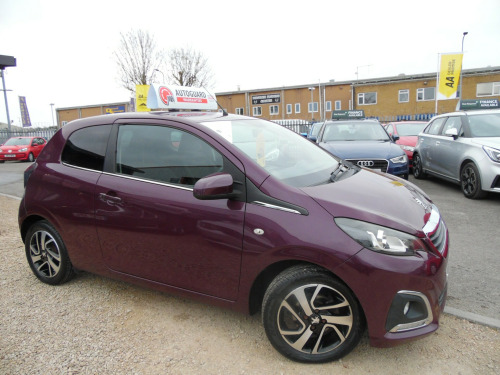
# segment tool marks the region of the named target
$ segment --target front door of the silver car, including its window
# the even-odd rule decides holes
[[[446,135],[448,130],[455,129],[458,138],[451,135]],[[463,136],[463,127],[461,116],[450,116],[447,118],[444,126],[441,128],[439,139],[436,140],[435,148],[435,171],[439,174],[457,180],[463,147],[461,142],[458,140],[460,136]]]

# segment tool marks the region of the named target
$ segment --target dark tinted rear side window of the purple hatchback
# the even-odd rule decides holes
[[[111,125],[77,130],[69,137],[61,156],[63,163],[102,171]]]

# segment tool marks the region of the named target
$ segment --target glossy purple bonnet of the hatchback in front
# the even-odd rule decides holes
[[[362,169],[339,181],[302,188],[334,217],[347,217],[421,236],[432,210],[414,184]]]

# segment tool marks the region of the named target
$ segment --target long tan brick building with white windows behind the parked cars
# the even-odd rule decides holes
[[[463,99],[500,99],[500,67],[463,71]],[[331,118],[332,110],[363,109],[380,121],[428,120],[454,111],[458,99],[436,102],[436,73],[216,93],[230,113],[268,120]],[[312,99],[312,100],[311,100]]]

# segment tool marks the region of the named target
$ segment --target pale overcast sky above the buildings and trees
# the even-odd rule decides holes
[[[51,103],[128,101],[112,53],[131,29],[202,52],[216,93],[432,73],[464,31],[464,69],[500,66],[499,0],[0,0],[0,55],[17,59],[4,71],[14,124],[18,96],[34,126],[52,124]]]

